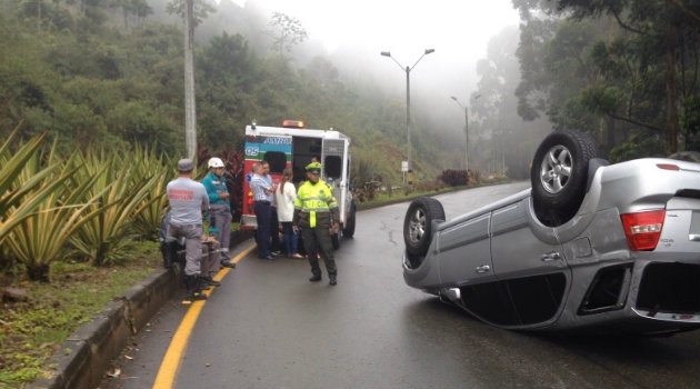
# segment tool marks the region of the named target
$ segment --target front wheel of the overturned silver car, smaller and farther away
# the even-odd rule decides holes
[[[433,220],[444,220],[444,209],[440,201],[429,197],[411,201],[403,219],[403,242],[413,268],[422,262],[428,252]]]

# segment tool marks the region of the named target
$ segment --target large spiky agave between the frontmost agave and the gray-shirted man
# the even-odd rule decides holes
[[[138,161],[124,150],[112,152],[88,151],[81,154],[82,169],[78,172],[81,180],[93,177],[98,171],[103,174],[94,182],[90,197],[99,200],[89,208],[91,211],[104,207],[98,217],[80,226],[71,238],[73,247],[87,256],[97,266],[107,265],[123,256],[129,242],[134,216],[144,207],[147,197],[158,183],[159,177],[138,176]],[[128,164],[124,161],[129,161]]]

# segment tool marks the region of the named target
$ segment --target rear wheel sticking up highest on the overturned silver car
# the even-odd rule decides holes
[[[556,131],[542,140],[530,180],[534,212],[543,225],[558,227],[576,215],[586,194],[588,162],[597,157],[593,140],[578,131]]]

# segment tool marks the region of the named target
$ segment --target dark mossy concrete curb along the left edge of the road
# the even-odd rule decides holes
[[[231,233],[234,247],[252,238],[253,230]],[[180,271],[160,269],[107,303],[102,313],[71,333],[47,361],[50,377],[28,383],[32,389],[94,388],[104,378],[110,362],[119,357],[132,335],[138,333],[158,310],[181,288]]]

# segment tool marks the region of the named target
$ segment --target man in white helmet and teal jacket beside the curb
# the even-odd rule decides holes
[[[202,184],[209,194],[209,232],[214,236],[221,246],[221,266],[234,268],[229,257],[229,243],[231,238],[231,201],[226,186],[224,164],[220,158],[209,160],[209,174],[202,180]]]

